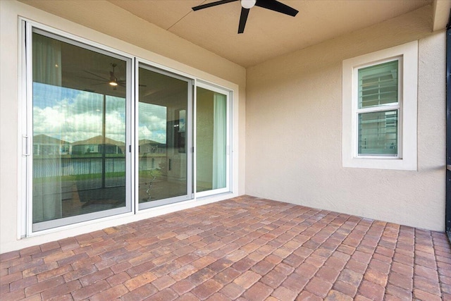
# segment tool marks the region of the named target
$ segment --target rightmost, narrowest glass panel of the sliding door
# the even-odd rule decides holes
[[[211,88],[213,89],[213,88]],[[197,87],[196,192],[228,191],[228,96]]]

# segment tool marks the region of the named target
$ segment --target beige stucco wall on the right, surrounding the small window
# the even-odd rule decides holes
[[[431,9],[247,70],[248,195],[445,230],[445,32]],[[418,171],[343,168],[342,60],[414,40]]]

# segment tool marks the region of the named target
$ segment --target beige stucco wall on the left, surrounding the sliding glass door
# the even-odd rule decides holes
[[[39,6],[44,2],[35,1],[33,4]],[[135,18],[108,1],[89,1],[89,5],[86,4],[85,1],[54,1],[51,10],[52,13],[58,13],[60,17],[57,17],[18,1],[0,1],[1,253],[245,193],[245,68]],[[23,228],[25,199],[25,180],[21,172],[23,157],[20,137],[23,133],[21,126],[24,122],[24,102],[19,72],[19,16],[233,90],[233,194],[171,204],[137,215],[113,216],[94,223],[80,223],[35,237],[19,239],[20,228]],[[121,24],[127,26],[111,27],[111,20],[121,20]]]

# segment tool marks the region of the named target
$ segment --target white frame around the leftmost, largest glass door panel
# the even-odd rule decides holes
[[[132,181],[134,181],[134,173],[132,172],[132,152],[129,152],[132,145],[132,139],[134,133],[132,133],[132,124],[133,124],[133,116],[131,110],[131,102],[132,102],[132,87],[133,82],[135,81],[134,74],[132,74],[132,61],[133,57],[129,54],[125,54],[116,49],[110,49],[109,47],[105,47],[103,45],[94,43],[92,41],[88,41],[86,39],[82,39],[80,37],[76,37],[74,35],[70,35],[67,32],[61,32],[60,30],[55,30],[54,28],[48,27],[46,25],[41,25],[38,23],[34,23],[29,20],[21,19],[21,23],[23,27],[23,85],[26,87],[26,95],[25,95],[25,104],[24,107],[24,118],[25,126],[23,127],[23,147],[22,147],[22,159],[23,166],[25,170],[23,173],[26,175],[26,187],[25,187],[25,200],[24,200],[24,209],[22,210],[23,214],[25,214],[25,224],[22,224],[25,227],[25,231],[21,231],[21,236],[33,236],[37,234],[44,234],[53,231],[59,231],[62,228],[72,226],[73,224],[81,224],[81,223],[89,223],[92,220],[98,219],[114,219],[118,214],[132,214],[134,211],[135,204],[132,203]],[[82,49],[87,49],[90,51],[97,52],[99,54],[104,54],[106,56],[111,56],[112,58],[121,59],[126,62],[126,79],[128,85],[126,85],[125,92],[125,206],[120,208],[106,209],[103,211],[95,211],[87,214],[80,214],[75,216],[63,217],[60,219],[53,219],[49,221],[42,221],[39,223],[33,223],[32,221],[32,158],[33,158],[33,95],[32,95],[32,33],[37,32],[40,35],[44,35],[46,37],[50,37],[52,39],[57,39],[61,42],[66,42],[68,44],[72,44],[76,47],[80,47]]]

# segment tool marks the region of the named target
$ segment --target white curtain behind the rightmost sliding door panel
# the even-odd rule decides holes
[[[214,93],[213,189],[226,187],[227,97]]]

